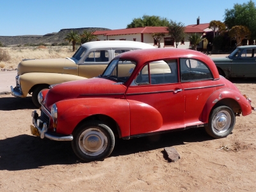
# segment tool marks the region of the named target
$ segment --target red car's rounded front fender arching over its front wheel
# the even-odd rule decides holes
[[[92,115],[105,115],[115,120],[121,137],[130,135],[130,110],[125,99],[83,98],[56,102],[58,124],[56,132],[72,134],[76,126]]]

